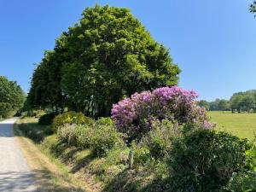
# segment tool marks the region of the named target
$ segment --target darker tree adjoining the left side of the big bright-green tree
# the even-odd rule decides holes
[[[27,108],[50,107],[63,111],[64,95],[61,90],[61,67],[55,51],[46,51],[44,59],[34,70],[31,89],[27,96]],[[60,62],[61,63],[61,62]]]

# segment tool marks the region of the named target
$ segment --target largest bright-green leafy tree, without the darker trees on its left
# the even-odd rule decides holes
[[[98,116],[136,91],[177,84],[180,73],[168,49],[151,38],[129,9],[85,9],[64,38],[70,58],[61,85],[75,109]],[[80,90],[80,91],[79,91]]]

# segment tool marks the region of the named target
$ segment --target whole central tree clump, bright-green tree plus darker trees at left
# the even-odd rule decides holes
[[[179,73],[169,50],[129,9],[96,5],[44,53],[26,108],[108,116],[113,103],[134,92],[177,84]]]

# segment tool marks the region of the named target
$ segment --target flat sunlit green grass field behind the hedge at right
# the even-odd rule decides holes
[[[256,113],[208,112],[211,122],[217,123],[216,130],[228,131],[241,138],[254,138]]]

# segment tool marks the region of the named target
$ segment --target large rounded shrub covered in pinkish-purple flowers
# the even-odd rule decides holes
[[[112,119],[119,131],[133,138],[150,131],[154,119],[169,119],[178,125],[195,123],[209,129],[205,108],[195,103],[197,96],[194,90],[178,86],[135,93],[113,105]]]

